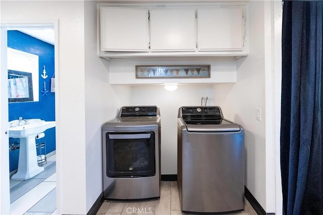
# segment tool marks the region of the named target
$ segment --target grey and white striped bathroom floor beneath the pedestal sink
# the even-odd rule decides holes
[[[10,214],[56,214],[56,155],[43,167],[29,180],[10,180]]]

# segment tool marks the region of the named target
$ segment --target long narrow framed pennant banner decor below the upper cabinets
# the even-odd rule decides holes
[[[202,72],[201,72],[202,71]],[[210,65],[136,65],[136,78],[210,78]]]

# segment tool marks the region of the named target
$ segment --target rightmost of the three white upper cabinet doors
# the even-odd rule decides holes
[[[242,8],[198,9],[198,50],[242,50],[242,12]]]

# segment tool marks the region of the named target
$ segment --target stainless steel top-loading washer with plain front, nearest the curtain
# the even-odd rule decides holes
[[[243,127],[225,119],[219,106],[182,106],[177,174],[182,211],[243,210]]]

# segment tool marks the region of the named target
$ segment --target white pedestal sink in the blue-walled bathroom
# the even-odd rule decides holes
[[[44,121],[40,119],[19,120],[9,122],[9,137],[20,139],[20,151],[18,161],[18,171],[12,176],[12,180],[27,180],[44,171],[43,167],[37,164],[36,136],[55,127],[55,121]]]

